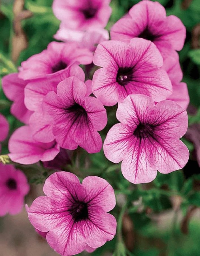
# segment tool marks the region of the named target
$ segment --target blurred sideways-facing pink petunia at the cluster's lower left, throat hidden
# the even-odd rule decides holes
[[[14,131],[8,149],[10,159],[19,164],[34,164],[39,160],[50,161],[59,153],[59,145],[55,141],[50,143],[35,141],[29,126],[22,126]]]

